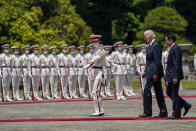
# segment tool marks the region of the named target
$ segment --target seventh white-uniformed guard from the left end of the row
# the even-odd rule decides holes
[[[59,77],[60,77],[60,88],[62,90],[62,97],[65,99],[70,99],[70,93],[69,92],[69,83],[68,83],[68,78],[69,78],[69,61],[68,61],[68,54],[67,54],[67,45],[62,45],[60,46],[61,53],[58,55],[59,56]]]

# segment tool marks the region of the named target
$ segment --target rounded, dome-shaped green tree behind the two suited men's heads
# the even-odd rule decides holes
[[[141,31],[137,33],[138,40],[134,41],[134,45],[143,43],[143,32],[151,29],[156,34],[156,39],[164,44],[164,35],[173,32],[177,36],[178,43],[184,43],[188,40],[185,38],[187,21],[173,8],[157,7],[151,10],[142,23]]]

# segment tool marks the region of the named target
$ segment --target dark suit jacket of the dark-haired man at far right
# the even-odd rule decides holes
[[[169,50],[165,77],[167,82],[171,82],[173,78],[178,78],[179,80],[184,78],[182,69],[182,51],[177,44],[174,44]]]

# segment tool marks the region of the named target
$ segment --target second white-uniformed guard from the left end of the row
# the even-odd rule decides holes
[[[14,100],[20,101],[22,100],[20,98],[19,94],[19,87],[20,82],[22,79],[22,57],[19,55],[19,46],[13,46],[11,47],[13,50],[12,62],[13,62],[13,69],[12,69],[12,87],[13,87],[13,95]]]

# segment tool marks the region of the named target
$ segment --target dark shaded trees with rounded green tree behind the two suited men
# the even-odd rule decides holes
[[[167,32],[177,35],[178,43],[196,43],[194,0],[71,0],[77,12],[104,36],[104,43],[124,40],[143,43],[143,31],[153,29],[163,42]],[[194,52],[194,50],[192,50]]]

